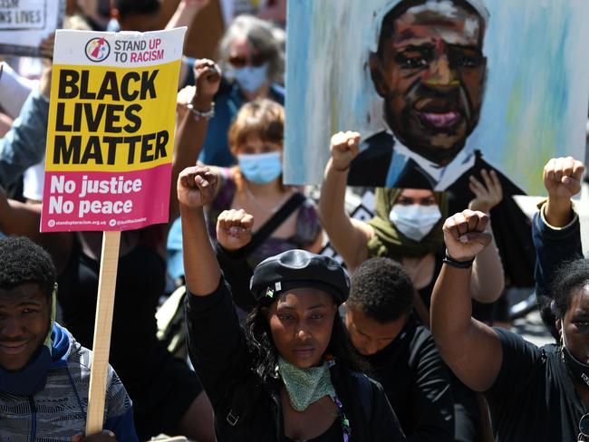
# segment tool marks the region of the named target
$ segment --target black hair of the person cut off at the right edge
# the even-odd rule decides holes
[[[551,310],[556,319],[563,319],[571,306],[575,290],[589,284],[589,259],[577,259],[561,265],[553,275],[551,293],[554,303]]]

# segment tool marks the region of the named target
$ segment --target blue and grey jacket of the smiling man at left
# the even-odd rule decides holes
[[[24,370],[0,369],[0,440],[70,441],[84,432],[92,353],[57,323],[48,350]],[[103,428],[119,442],[138,440],[129,395],[110,366]]]

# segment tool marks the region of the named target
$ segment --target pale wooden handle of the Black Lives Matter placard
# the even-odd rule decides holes
[[[92,369],[86,416],[86,434],[100,433],[104,422],[104,399],[111,350],[112,311],[117,284],[117,265],[121,232],[104,232],[102,236],[101,273],[96,300],[96,320],[92,344]]]

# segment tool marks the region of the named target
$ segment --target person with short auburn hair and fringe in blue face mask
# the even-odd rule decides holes
[[[198,121],[188,119],[189,124]],[[243,209],[254,218],[254,239],[245,253],[254,267],[268,256],[302,248],[317,253],[323,230],[311,199],[282,184],[284,108],[270,100],[246,103],[228,133],[231,152],[237,158],[233,168],[213,168],[221,182],[208,207],[208,233],[217,238],[217,217],[225,210]],[[179,130],[187,135],[189,127]],[[176,226],[179,228],[179,226]],[[181,275],[181,251],[174,250],[169,273]]]

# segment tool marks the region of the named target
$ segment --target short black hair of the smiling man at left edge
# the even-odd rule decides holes
[[[36,283],[47,296],[53,293],[57,279],[55,265],[43,247],[23,236],[0,239],[0,288],[14,289],[24,283]]]

